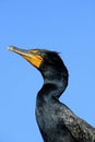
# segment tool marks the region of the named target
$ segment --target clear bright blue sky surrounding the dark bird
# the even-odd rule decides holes
[[[43,142],[35,120],[43,78],[10,45],[60,52],[70,74],[60,100],[95,127],[94,0],[0,0],[0,142]]]

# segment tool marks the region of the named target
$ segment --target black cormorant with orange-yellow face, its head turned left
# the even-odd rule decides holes
[[[69,72],[58,52],[9,46],[34,66],[44,79],[36,97],[36,121],[44,142],[95,142],[95,128],[76,116],[60,96],[68,86]]]

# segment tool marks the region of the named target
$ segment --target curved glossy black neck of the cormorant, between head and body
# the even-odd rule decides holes
[[[44,85],[38,93],[38,96],[44,97],[45,99],[59,98],[62,92],[64,92],[68,85],[68,80],[63,74],[57,75],[49,79],[44,79]]]

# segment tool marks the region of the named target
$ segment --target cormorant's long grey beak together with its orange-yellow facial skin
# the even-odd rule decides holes
[[[38,52],[37,49],[23,50],[23,49],[16,48],[14,46],[10,46],[9,50],[21,55],[24,59],[26,59],[28,62],[31,62],[36,68],[39,68],[40,63],[44,60],[39,55],[37,55],[37,52]]]

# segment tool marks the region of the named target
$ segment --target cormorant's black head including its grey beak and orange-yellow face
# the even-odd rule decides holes
[[[9,50],[21,55],[31,64],[37,68],[41,72],[44,79],[50,81],[57,76],[61,78],[61,74],[63,74],[66,80],[68,80],[68,70],[56,51],[46,49],[25,50],[14,46],[10,46]]]

